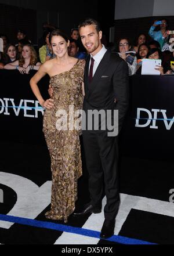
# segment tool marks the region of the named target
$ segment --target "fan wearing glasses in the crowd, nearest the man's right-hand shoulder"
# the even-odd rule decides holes
[[[128,63],[129,67],[129,75],[134,75],[136,73],[137,67],[137,58],[136,52],[133,51],[132,53],[126,53],[131,51],[131,44],[129,43],[128,38],[121,38],[118,43],[119,47],[119,56]]]

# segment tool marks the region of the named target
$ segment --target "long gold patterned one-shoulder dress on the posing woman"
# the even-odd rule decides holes
[[[77,200],[77,181],[82,175],[81,148],[79,131],[71,128],[70,108],[74,112],[82,109],[82,82],[84,81],[85,60],[78,60],[70,71],[50,78],[53,88],[55,106],[44,114],[44,134],[51,157],[52,169],[52,199],[51,210],[46,212],[48,219],[64,220],[75,210]],[[64,124],[61,112],[66,111],[68,128],[57,129]],[[72,113],[72,112],[71,112]]]

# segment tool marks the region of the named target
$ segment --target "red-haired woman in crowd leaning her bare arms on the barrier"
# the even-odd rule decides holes
[[[19,70],[21,74],[28,74],[30,70],[38,70],[41,63],[37,61],[37,53],[32,45],[24,45],[21,56],[16,62],[6,64],[5,69]]]

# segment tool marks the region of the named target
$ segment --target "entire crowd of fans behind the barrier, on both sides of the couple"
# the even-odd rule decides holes
[[[151,40],[149,42],[147,42],[147,35],[139,34],[135,45],[132,45],[126,37],[119,39],[118,44],[107,45],[110,51],[115,52],[128,63],[129,75],[142,73],[143,59],[161,59],[161,66],[155,69],[159,70],[161,75],[174,74],[174,66],[171,63],[174,62],[174,49],[171,49],[171,45],[174,43],[174,33],[169,33],[166,19],[162,19],[160,23],[155,20],[153,26],[150,27],[148,35]],[[54,27],[45,27],[37,48],[32,46],[31,41],[22,30],[17,32],[16,45],[10,44],[8,37],[0,34],[0,38],[3,39],[0,69],[17,69],[21,74],[28,74],[30,70],[38,70],[46,60],[56,57],[49,41],[49,35],[53,30]],[[68,54],[78,59],[86,59],[88,56],[76,28],[71,30]]]

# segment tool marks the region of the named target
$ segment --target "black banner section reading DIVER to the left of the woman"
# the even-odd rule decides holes
[[[30,87],[36,71],[20,74],[18,70],[0,70],[0,140],[45,143],[42,132],[44,110]],[[44,99],[48,99],[49,76],[39,82]]]

